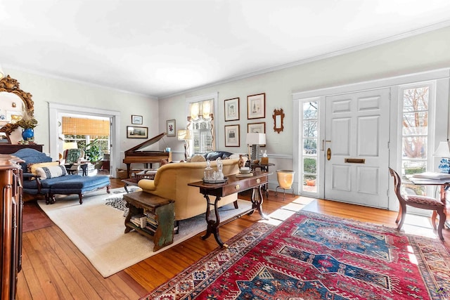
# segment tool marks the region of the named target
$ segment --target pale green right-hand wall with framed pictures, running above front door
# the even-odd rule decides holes
[[[286,47],[289,47],[289,41],[286,41]],[[229,63],[233,64],[232,61]],[[293,118],[296,116],[293,114],[293,92],[352,84],[443,67],[450,67],[450,27],[160,100],[160,126],[166,119],[176,119],[177,124],[185,125],[186,113],[183,108],[185,98],[218,91],[219,110],[214,119],[216,126],[219,127],[219,136],[217,137],[219,150],[247,152],[245,145],[247,124],[266,122],[267,153],[292,156]],[[255,93],[266,93],[266,118],[248,120],[247,96]],[[224,100],[236,97],[240,98],[240,120],[224,122]],[[283,108],[285,112],[285,130],[279,134],[273,130],[274,124],[271,115],[275,108]],[[240,124],[240,148],[224,147],[224,124]],[[171,143],[174,145],[172,148],[182,149],[182,143],[178,141],[171,141]],[[277,169],[279,165],[277,165]]]

